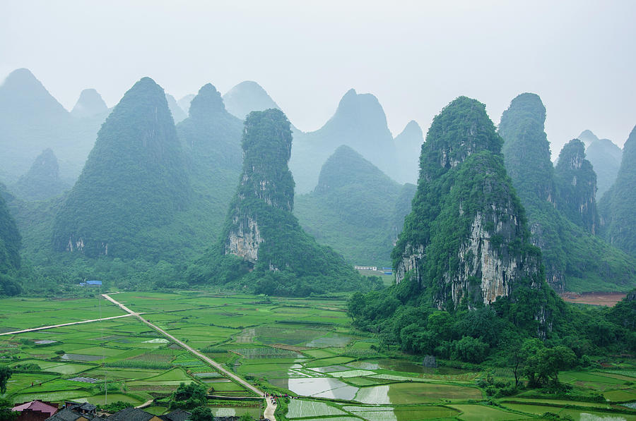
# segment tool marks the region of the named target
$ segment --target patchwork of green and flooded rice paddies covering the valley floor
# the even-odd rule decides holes
[[[636,402],[636,369],[630,360],[603,370],[561,374],[561,382],[577,390],[602,393],[603,402],[550,399],[531,391],[493,400],[477,386],[485,372],[426,368],[406,355],[379,354],[372,335],[351,328],[343,299],[201,292],[112,297],[261,389],[293,396],[288,403],[281,401],[279,421],[566,415],[572,420],[636,420],[636,410],[630,408]],[[123,314],[98,298],[0,300],[0,332],[98,319],[99,311],[102,317]],[[0,336],[0,358],[12,367],[37,365],[37,370],[16,371],[11,377],[6,397],[15,403],[34,398],[133,405],[155,401],[148,410],[161,414],[166,411],[161,398],[181,382],[198,382],[208,389],[215,415],[262,414],[261,403],[229,400],[247,398],[249,391],[134,317]]]

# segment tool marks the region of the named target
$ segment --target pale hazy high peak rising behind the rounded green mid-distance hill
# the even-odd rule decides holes
[[[396,178],[395,145],[382,106],[372,94],[358,94],[351,89],[322,128],[295,135],[290,169],[298,193],[308,193],[315,187],[322,165],[341,145],[351,147]]]

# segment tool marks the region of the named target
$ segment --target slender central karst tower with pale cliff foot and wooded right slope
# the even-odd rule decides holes
[[[240,183],[217,252],[190,269],[195,281],[231,281],[246,273],[240,282],[274,295],[365,288],[343,257],[316,243],[293,216],[291,145],[290,124],[282,111],[247,116]],[[254,270],[247,274],[241,267]]]

